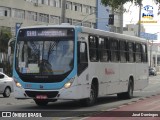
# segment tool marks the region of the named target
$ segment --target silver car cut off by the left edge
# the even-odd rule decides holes
[[[9,97],[11,92],[13,92],[13,79],[0,72],[0,94]]]

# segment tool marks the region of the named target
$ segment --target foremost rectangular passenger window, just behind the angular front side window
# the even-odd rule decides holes
[[[98,38],[89,36],[89,57],[91,62],[98,62]]]

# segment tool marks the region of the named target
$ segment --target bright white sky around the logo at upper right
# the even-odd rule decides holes
[[[147,5],[151,6],[150,10],[153,15],[151,18],[142,17],[141,14],[141,21],[156,21],[157,23],[142,23],[145,28],[145,32],[155,34],[160,32],[160,15],[158,15],[158,7],[153,0],[143,0],[142,2],[142,14],[146,13],[145,8]],[[145,8],[144,8],[145,7]],[[134,3],[127,3],[124,5],[124,8],[127,9],[127,12],[124,13],[123,18],[123,26],[126,24],[136,24],[139,21],[139,6],[135,6]],[[147,8],[146,8],[147,9]],[[160,33],[157,33],[158,41],[160,41]]]

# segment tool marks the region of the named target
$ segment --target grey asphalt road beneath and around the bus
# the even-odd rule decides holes
[[[138,101],[139,99],[152,97],[154,95],[160,94],[160,75],[157,76],[150,76],[149,85],[142,91],[135,91],[134,98],[131,100],[119,100],[117,99],[116,95],[110,95],[107,97],[102,97],[98,99],[98,102],[95,106],[92,107],[83,107],[77,101],[58,101],[55,103],[49,103],[48,106],[39,107],[37,106],[33,100],[16,100],[14,99],[13,94],[10,98],[3,98],[0,95],[0,111],[18,111],[18,112],[45,112],[44,114],[48,114],[48,116],[55,116],[55,117],[48,117],[42,118],[45,120],[54,120],[54,119],[83,119],[87,116],[92,114],[96,114],[102,111],[111,111],[116,109],[121,105],[126,105],[130,102]],[[77,118],[78,116],[78,118]],[[0,118],[1,120],[2,118]],[[11,119],[13,118],[3,118]],[[3,120],[2,119],[2,120]],[[15,120],[22,119],[22,118],[15,118]],[[27,118],[23,118],[23,120]],[[30,118],[31,119],[31,118]],[[33,118],[36,120],[36,118]],[[37,118],[40,120],[40,118]]]

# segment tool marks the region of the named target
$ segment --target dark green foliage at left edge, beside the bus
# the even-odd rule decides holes
[[[12,37],[11,32],[7,29],[0,30],[0,52],[7,53],[8,42]]]

